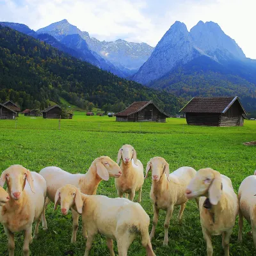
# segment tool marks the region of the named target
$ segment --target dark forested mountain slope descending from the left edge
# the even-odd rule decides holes
[[[167,113],[176,113],[182,99],[127,81],[90,63],[77,60],[42,40],[0,25],[0,101],[24,108],[45,108],[60,97],[83,108],[99,108],[154,100]]]

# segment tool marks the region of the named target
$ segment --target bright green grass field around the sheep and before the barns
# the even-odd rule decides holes
[[[20,116],[14,120],[0,120],[0,170],[11,164],[22,164],[39,172],[45,166],[59,166],[72,173],[85,173],[92,161],[99,156],[116,160],[118,149],[125,143],[136,148],[138,159],[147,164],[150,157],[161,156],[170,164],[170,171],[180,166],[192,166],[196,170],[211,167],[228,175],[237,192],[239,184],[256,169],[256,147],[246,147],[244,141],[256,140],[256,122],[246,120],[244,127],[193,127],[186,120],[169,118],[166,124],[120,123],[108,116],[74,115],[73,120],[44,120],[42,117]],[[141,205],[152,220],[153,211],[149,198],[151,180],[143,186]],[[101,182],[100,195],[116,197],[114,179]],[[137,195],[136,198],[137,199]],[[177,221],[175,209],[169,228],[169,246],[163,248],[165,212],[160,212],[156,238],[152,240],[154,252],[163,255],[206,255],[198,210],[194,202],[188,202],[183,223]],[[77,244],[70,244],[71,214],[61,216],[60,209],[53,212],[53,204],[47,209],[49,229],[40,226],[37,240],[30,245],[31,255],[65,255],[72,250],[84,255],[81,225]],[[244,222],[245,223],[245,222]],[[151,225],[150,225],[151,229]],[[250,227],[244,225],[243,244],[237,243],[237,222],[230,240],[230,255],[255,255]],[[15,236],[15,255],[22,255],[22,234]],[[221,237],[213,237],[214,255],[223,255]],[[115,252],[117,250],[115,246]],[[0,255],[8,255],[7,239],[0,225]],[[104,236],[97,236],[90,255],[109,255]],[[129,255],[145,255],[140,239],[132,243]]]

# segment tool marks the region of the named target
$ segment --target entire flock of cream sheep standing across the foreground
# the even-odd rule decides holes
[[[61,206],[66,215],[71,208],[73,232],[71,243],[76,242],[79,214],[82,216],[83,236],[86,238],[84,256],[88,256],[94,237],[106,236],[111,256],[114,256],[113,239],[118,246],[118,255],[125,256],[132,241],[141,236],[141,244],[148,256],[154,256],[150,240],[154,237],[159,210],[166,211],[164,241],[168,244],[168,227],[173,207],[180,205],[178,219],[181,221],[188,199],[195,198],[200,211],[202,232],[207,243],[207,255],[213,253],[211,236],[222,234],[225,255],[229,255],[229,240],[239,212],[239,241],[242,240],[243,217],[252,225],[256,246],[256,175],[243,180],[237,200],[231,180],[211,168],[194,170],[181,167],[170,173],[169,164],[162,157],[148,161],[144,178],[143,165],[137,159],[136,150],[124,145],[118,151],[117,163],[107,156],[95,159],[85,174],[71,174],[58,167],[46,167],[40,173],[29,172],[20,165],[4,170],[0,178],[0,222],[8,237],[9,255],[14,255],[14,233],[24,231],[23,255],[29,255],[29,243],[38,235],[38,226],[47,229],[45,209],[54,202],[54,209]],[[121,160],[120,166],[118,166]],[[154,217],[149,235],[150,218],[140,204],[132,202],[141,191],[144,179],[152,172],[150,198]],[[96,195],[101,180],[115,177],[115,186],[120,198]],[[3,189],[7,184],[7,191]],[[126,198],[122,198],[125,194]],[[127,196],[129,195],[129,200]],[[32,237],[32,224],[35,232]]]

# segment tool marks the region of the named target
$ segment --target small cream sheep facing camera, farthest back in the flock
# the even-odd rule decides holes
[[[124,145],[118,150],[116,162],[122,170],[122,176],[115,179],[117,195],[123,197],[123,194],[129,194],[129,199],[134,200],[135,192],[139,191],[138,202],[141,202],[141,192],[144,183],[143,164],[137,159],[136,150],[131,145]]]

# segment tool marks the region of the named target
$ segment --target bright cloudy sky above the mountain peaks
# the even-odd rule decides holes
[[[213,21],[256,59],[255,0],[0,0],[0,21],[37,30],[67,19],[99,40],[118,38],[156,46],[179,20],[190,30]]]

